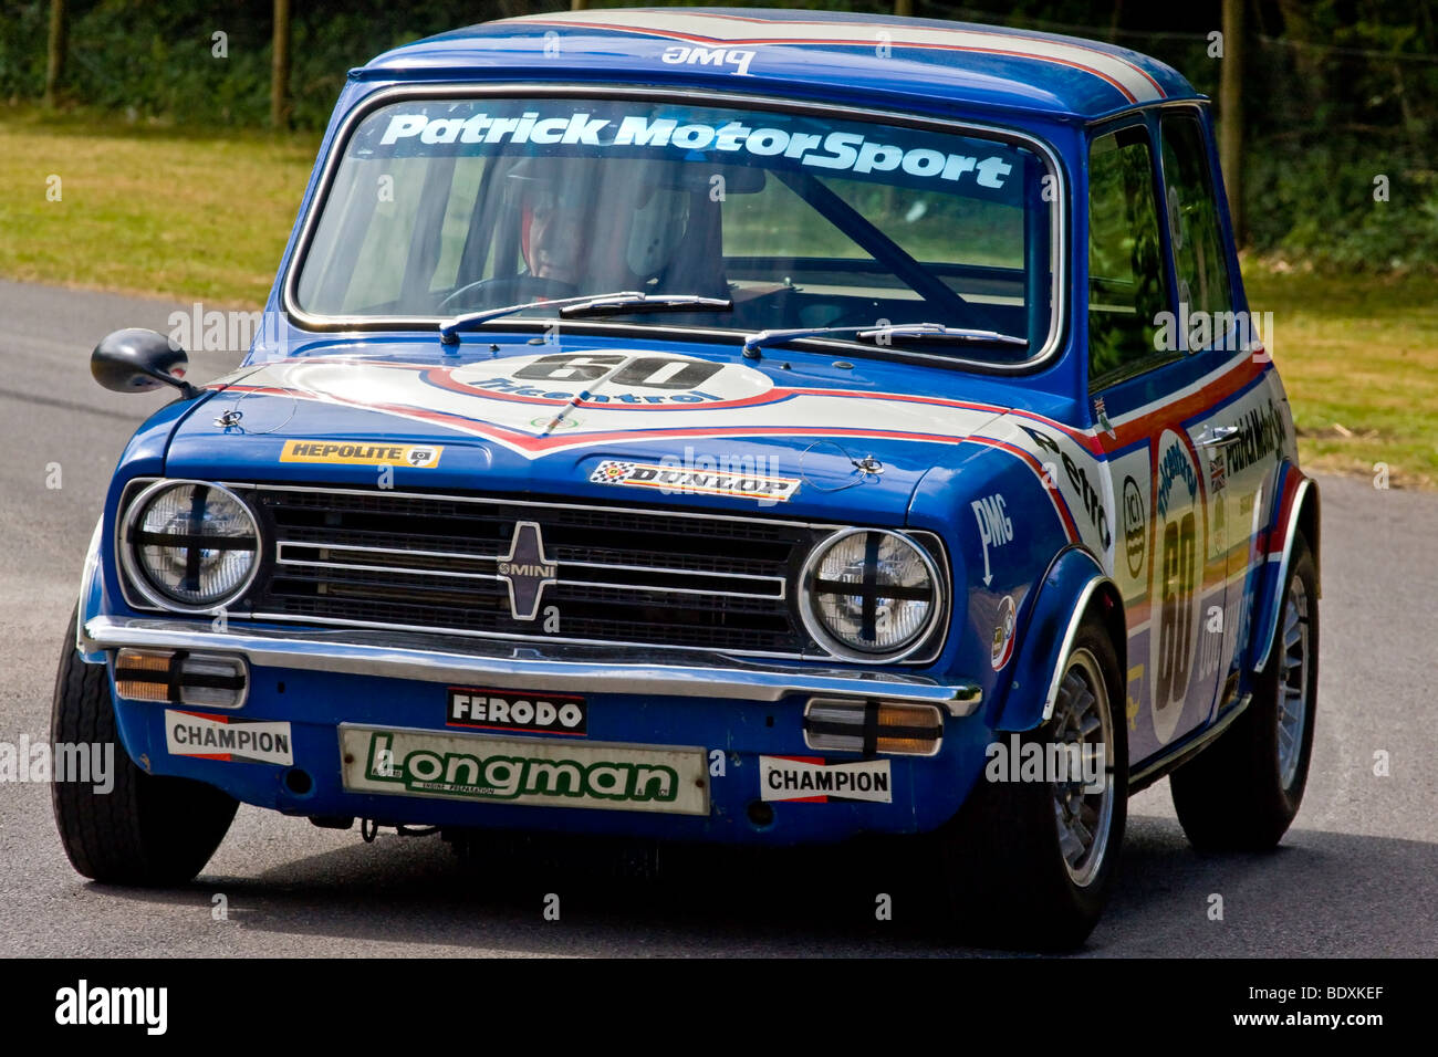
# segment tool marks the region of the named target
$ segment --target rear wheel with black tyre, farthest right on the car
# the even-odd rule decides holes
[[[1178,820],[1199,851],[1267,851],[1303,802],[1319,690],[1319,578],[1303,536],[1293,541],[1283,598],[1248,709],[1169,777]]]

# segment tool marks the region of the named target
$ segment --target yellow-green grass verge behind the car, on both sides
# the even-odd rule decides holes
[[[312,135],[0,106],[0,276],[257,308],[318,150]],[[52,200],[59,177],[59,198]],[[1438,276],[1245,262],[1273,312],[1309,469],[1438,488]]]

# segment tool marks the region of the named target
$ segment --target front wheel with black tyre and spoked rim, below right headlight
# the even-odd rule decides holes
[[[1127,818],[1127,741],[1119,659],[1084,620],[1064,659],[1054,715],[1022,746],[1103,746],[1102,790],[1078,781],[989,781],[939,831],[955,923],[979,942],[1068,951],[1093,932],[1117,871]],[[1001,742],[1008,743],[1008,742]],[[1030,752],[1027,748],[1021,752]]]

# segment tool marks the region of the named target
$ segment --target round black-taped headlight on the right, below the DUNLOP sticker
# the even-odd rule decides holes
[[[804,567],[804,624],[848,660],[893,660],[917,646],[943,608],[933,558],[899,532],[844,529]]]

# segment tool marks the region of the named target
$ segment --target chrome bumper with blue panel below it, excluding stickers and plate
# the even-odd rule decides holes
[[[672,659],[651,653],[646,659],[637,651],[595,647],[516,646],[352,628],[217,630],[204,621],[106,616],[86,621],[81,637],[82,649],[108,651],[111,659],[121,647],[243,656],[249,666],[243,706],[209,719],[282,725],[290,736],[292,759],[275,764],[171,752],[165,739],[167,710],[187,706],[116,696],[121,741],[129,756],[151,774],[209,782],[244,802],[298,815],[758,844],[916,833],[953,815],[982,772],[991,739],[974,715],[981,702],[978,687],[902,672],[769,666],[696,651],[674,651]],[[584,696],[590,726],[582,742],[518,735],[526,746],[568,742],[702,751],[709,767],[707,807],[702,814],[656,814],[462,802],[387,795],[347,782],[342,771],[347,729],[453,735],[453,726],[446,725],[444,702],[446,687],[456,686]],[[876,759],[860,752],[808,748],[802,716],[812,697],[935,705],[945,713],[942,745],[932,756],[879,755],[893,790],[892,800],[884,802],[837,797],[818,802],[771,800],[772,811],[755,814],[764,798],[761,771],[766,756],[815,764]],[[196,722],[206,722],[201,713],[220,712],[187,710]],[[508,738],[508,746],[489,743],[512,751],[515,738]],[[295,781],[296,774],[301,782]]]

